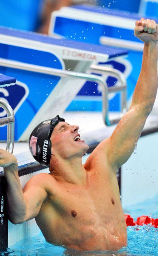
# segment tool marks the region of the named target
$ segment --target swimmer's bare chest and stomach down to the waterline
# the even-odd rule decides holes
[[[88,245],[96,239],[98,245],[106,244],[111,241],[107,240],[109,235],[111,239],[113,236],[121,238],[126,226],[119,192],[115,188],[117,181],[113,183],[94,173],[86,188],[62,184],[56,196],[42,206],[37,218],[45,238],[56,244],[62,241],[70,247],[71,242]]]

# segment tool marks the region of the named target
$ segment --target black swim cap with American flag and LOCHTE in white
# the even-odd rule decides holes
[[[51,158],[51,141],[50,137],[54,127],[59,122],[65,122],[65,119],[59,117],[45,120],[38,124],[32,131],[29,138],[29,149],[36,161],[49,167]]]

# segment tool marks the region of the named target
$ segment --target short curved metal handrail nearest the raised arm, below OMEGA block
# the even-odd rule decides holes
[[[121,93],[121,113],[122,115],[127,112],[127,82],[123,73],[115,68],[105,67],[101,65],[91,65],[93,72],[103,71],[117,78],[121,84],[116,84],[115,86],[108,87],[108,93],[120,92]]]

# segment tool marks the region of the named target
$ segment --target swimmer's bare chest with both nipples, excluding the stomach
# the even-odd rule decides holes
[[[92,172],[85,187],[75,184],[60,184],[55,196],[50,196],[48,203],[57,216],[75,221],[93,219],[109,221],[122,211],[117,179],[110,180],[106,175]],[[118,216],[118,214],[117,214]]]

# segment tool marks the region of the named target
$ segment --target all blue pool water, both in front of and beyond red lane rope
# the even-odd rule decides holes
[[[124,209],[135,220],[141,215],[158,218],[158,195],[137,205]],[[47,243],[42,235],[27,238],[12,246],[8,253],[10,256],[156,256],[158,255],[158,228],[150,225],[133,226],[127,228],[128,246],[117,252],[78,252],[66,250],[61,246]],[[4,254],[6,255],[6,254]]]

